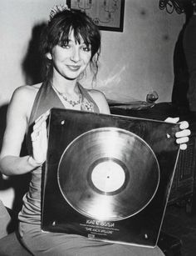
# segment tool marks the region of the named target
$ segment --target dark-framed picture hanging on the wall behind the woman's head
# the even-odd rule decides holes
[[[123,32],[125,0],[67,0],[71,9],[90,16],[101,30]]]

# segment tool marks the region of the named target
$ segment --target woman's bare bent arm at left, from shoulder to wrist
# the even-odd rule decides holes
[[[25,86],[12,95],[0,154],[0,170],[5,175],[28,173],[40,164],[31,156],[19,157],[36,92],[35,88]]]

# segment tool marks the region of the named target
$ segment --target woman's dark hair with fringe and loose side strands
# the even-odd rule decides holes
[[[82,38],[87,47],[91,45],[90,68],[93,81],[96,79],[100,57],[100,31],[92,19],[79,10],[57,12],[44,28],[40,43],[44,79],[50,79],[52,75],[52,62],[47,58],[47,53],[51,53],[56,45],[62,46],[68,43],[71,31],[77,43],[81,43]]]

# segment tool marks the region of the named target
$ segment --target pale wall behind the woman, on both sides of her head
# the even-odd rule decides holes
[[[32,83],[27,69],[37,66],[35,58],[24,69],[35,26],[47,21],[51,7],[59,0],[1,0],[0,8],[0,135],[5,128],[4,106],[15,88]],[[64,1],[65,2],[65,1]],[[107,98],[145,100],[151,90],[159,101],[170,101],[173,88],[173,53],[184,15],[159,10],[159,0],[125,0],[124,32],[102,31],[102,53],[97,88]],[[37,56],[38,58],[38,56]],[[33,63],[34,62],[34,63]],[[39,72],[36,68],[37,73]],[[86,87],[91,85],[87,78]],[[2,137],[2,136],[1,136]],[[1,146],[1,145],[0,145]],[[14,192],[0,198],[12,207]]]

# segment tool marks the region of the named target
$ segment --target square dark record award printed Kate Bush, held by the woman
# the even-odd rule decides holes
[[[154,247],[179,124],[52,108],[42,231]]]

